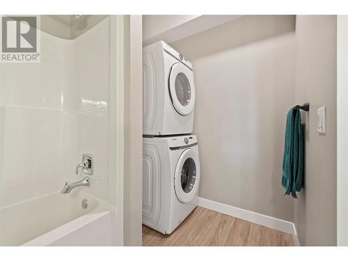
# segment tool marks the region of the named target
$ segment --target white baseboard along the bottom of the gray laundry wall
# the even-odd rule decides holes
[[[282,219],[276,219],[271,216],[266,216],[264,214],[259,214],[256,212],[251,212],[246,209],[241,209],[239,207],[232,207],[223,203],[219,203],[212,200],[207,200],[205,198],[196,198],[196,204],[200,207],[205,207],[222,214],[229,216],[235,216],[238,219],[244,219],[246,221],[256,223],[267,228],[273,228],[281,232],[292,234],[294,238],[295,246],[299,246],[299,239],[297,238],[296,228],[294,223],[285,221]]]

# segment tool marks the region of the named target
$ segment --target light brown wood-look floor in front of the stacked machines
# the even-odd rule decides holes
[[[294,246],[292,235],[196,207],[171,235],[143,225],[143,246]]]

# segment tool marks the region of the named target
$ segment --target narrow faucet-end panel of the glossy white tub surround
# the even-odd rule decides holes
[[[109,200],[110,17],[71,42],[74,68],[70,73],[74,74],[79,106],[77,157],[72,157],[74,162],[70,169],[76,166],[78,159],[81,161],[82,154],[92,154],[95,157],[95,171],[86,190]],[[80,173],[79,177],[70,176],[69,179],[84,177],[84,173]]]

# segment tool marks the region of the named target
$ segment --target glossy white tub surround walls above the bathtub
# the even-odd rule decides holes
[[[75,40],[41,32],[41,62],[0,64],[0,207],[61,191],[82,153],[108,199],[109,19]]]

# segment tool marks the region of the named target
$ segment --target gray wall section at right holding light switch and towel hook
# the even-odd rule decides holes
[[[336,244],[336,17],[296,17],[296,102],[310,102],[306,119],[306,178],[295,205],[303,246]],[[326,106],[326,135],[317,109]]]

